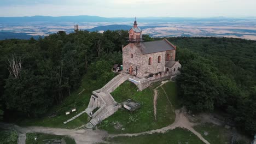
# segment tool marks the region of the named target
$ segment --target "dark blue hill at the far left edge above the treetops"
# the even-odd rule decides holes
[[[13,32],[1,32],[0,31],[0,40],[5,39],[38,39],[39,35],[28,35],[27,33],[13,33]]]

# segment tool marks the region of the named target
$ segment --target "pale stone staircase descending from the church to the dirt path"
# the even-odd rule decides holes
[[[100,106],[97,106],[100,107],[100,109],[92,114],[91,121],[85,125],[86,128],[95,127],[98,123],[103,121],[103,119],[113,115],[113,113],[121,107],[121,105],[118,105],[110,93],[113,92],[115,88],[120,86],[121,83],[125,82],[128,77],[128,74],[119,74],[109,81],[107,85],[101,89],[98,89],[97,91],[92,92],[98,98],[98,100],[90,100],[88,108],[85,110],[85,112],[91,116],[90,113],[94,110],[92,106],[95,106],[95,101],[97,101],[97,105],[100,103]],[[94,99],[96,98],[95,96],[92,95]]]

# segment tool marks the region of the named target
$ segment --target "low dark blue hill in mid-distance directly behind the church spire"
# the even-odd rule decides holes
[[[115,30],[130,30],[132,26],[128,25],[108,25],[108,26],[98,26],[90,29],[86,29],[87,31],[93,32],[93,31],[115,31]],[[146,28],[156,28],[156,27],[167,27],[167,26],[141,26],[139,28],[146,29]]]

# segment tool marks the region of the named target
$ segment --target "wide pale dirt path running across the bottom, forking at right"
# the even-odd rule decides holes
[[[194,130],[193,126],[195,123],[189,122],[188,117],[186,116],[187,113],[184,110],[175,110],[176,118],[173,124],[168,125],[167,127],[144,131],[142,133],[136,134],[108,134],[107,131],[103,130],[92,130],[92,129],[59,129],[59,128],[45,128],[45,127],[19,127],[18,125],[13,124],[5,124],[0,123],[0,127],[3,129],[15,129],[18,131],[19,134],[19,141],[20,143],[25,143],[26,140],[26,133],[45,133],[45,134],[53,134],[53,135],[67,135],[72,137],[77,144],[80,143],[101,143],[104,142],[104,137],[117,137],[117,136],[139,136],[143,134],[153,134],[153,133],[165,133],[168,130],[172,130],[175,128],[185,128],[199,137],[200,140],[205,142],[206,144],[210,144],[207,140],[205,140],[201,134],[197,133]]]

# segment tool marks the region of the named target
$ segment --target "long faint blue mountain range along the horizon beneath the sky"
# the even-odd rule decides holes
[[[229,17],[139,17],[139,22],[186,22],[186,21],[233,21],[247,18]],[[251,18],[250,18],[251,19]],[[133,21],[133,17],[100,17],[100,16],[24,16],[24,17],[0,17],[0,22],[127,22]]]

